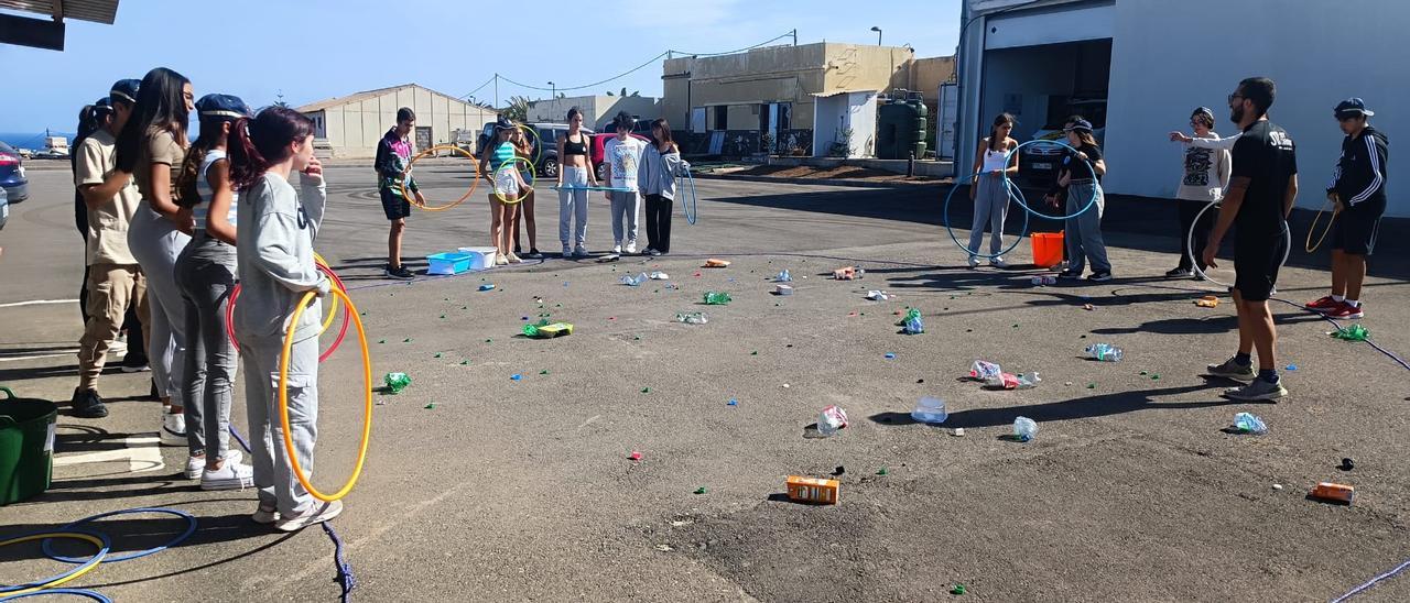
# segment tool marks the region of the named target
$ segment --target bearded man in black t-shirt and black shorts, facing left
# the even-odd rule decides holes
[[[1231,225],[1238,227],[1231,287],[1238,309],[1238,354],[1208,366],[1210,375],[1249,382],[1224,392],[1234,400],[1277,400],[1287,394],[1277,378],[1277,331],[1268,297],[1287,251],[1287,214],[1297,199],[1297,158],[1287,132],[1268,121],[1273,94],[1273,80],[1268,77],[1245,79],[1230,94],[1230,120],[1244,134],[1234,144],[1234,173],[1204,248],[1204,262],[1215,266],[1214,255],[1224,235]],[[1258,348],[1258,373],[1251,359],[1253,348]]]

